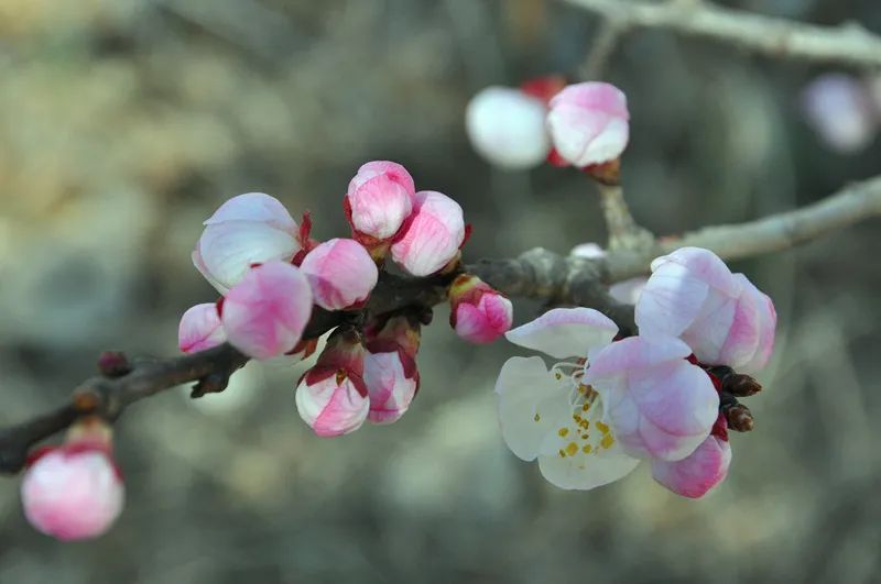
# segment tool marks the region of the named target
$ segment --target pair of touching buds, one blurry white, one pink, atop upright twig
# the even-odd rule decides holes
[[[613,85],[566,85],[543,77],[519,89],[488,87],[468,103],[465,125],[475,150],[503,168],[545,161],[590,169],[616,161],[630,139],[627,97]]]

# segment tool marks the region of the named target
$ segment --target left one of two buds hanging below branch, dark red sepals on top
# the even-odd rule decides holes
[[[370,410],[363,374],[365,349],[358,334],[338,329],[297,385],[300,417],[320,437],[342,436],[360,428]]]

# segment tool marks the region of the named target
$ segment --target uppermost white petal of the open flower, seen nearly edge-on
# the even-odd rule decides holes
[[[505,333],[514,344],[541,351],[556,359],[585,356],[605,346],[618,333],[618,326],[592,308],[555,308],[532,322]]]

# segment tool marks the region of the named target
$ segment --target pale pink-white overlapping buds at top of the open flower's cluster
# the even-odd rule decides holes
[[[754,372],[774,346],[771,299],[699,247],[682,247],[652,262],[635,318],[640,334],[678,337],[707,365]]]

